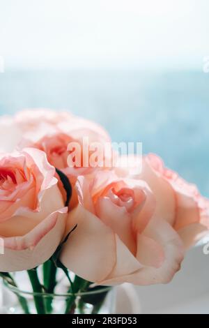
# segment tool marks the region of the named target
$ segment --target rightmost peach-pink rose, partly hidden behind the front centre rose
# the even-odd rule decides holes
[[[150,186],[156,199],[155,216],[164,218],[180,235],[185,248],[196,244],[209,228],[209,200],[202,197],[194,184],[164,167],[155,154],[144,156],[140,174],[132,169],[116,169],[123,177],[143,179]]]

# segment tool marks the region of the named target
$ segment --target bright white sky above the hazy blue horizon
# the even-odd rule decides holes
[[[0,0],[13,68],[201,68],[208,0]]]

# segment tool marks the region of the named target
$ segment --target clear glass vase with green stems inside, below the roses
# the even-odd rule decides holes
[[[3,313],[6,314],[111,314],[114,289],[98,286],[88,292],[53,293],[20,290],[3,282]]]

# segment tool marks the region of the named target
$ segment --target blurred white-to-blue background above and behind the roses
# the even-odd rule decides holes
[[[208,1],[0,7],[1,114],[68,109],[102,124],[113,141],[143,142],[209,196]]]

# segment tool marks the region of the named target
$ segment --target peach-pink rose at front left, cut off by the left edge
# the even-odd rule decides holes
[[[54,174],[38,149],[0,155],[0,271],[32,269],[59,246],[67,208]]]

